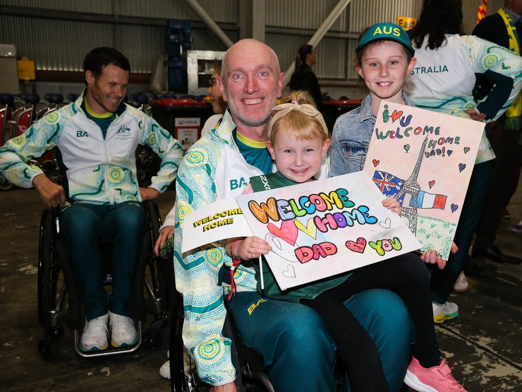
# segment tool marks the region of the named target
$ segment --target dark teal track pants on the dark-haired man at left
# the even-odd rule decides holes
[[[132,317],[132,276],[141,250],[147,220],[139,202],[115,205],[74,203],[60,213],[69,262],[79,286],[87,320],[107,310]],[[112,237],[112,294],[102,285],[100,238]]]

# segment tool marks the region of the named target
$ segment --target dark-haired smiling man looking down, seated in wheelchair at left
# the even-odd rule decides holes
[[[85,306],[82,351],[124,347],[138,337],[132,320],[131,277],[145,233],[142,201],[156,199],[176,176],[183,156],[177,140],[145,113],[126,105],[131,66],[113,48],[84,59],[86,89],[70,105],[49,113],[0,148],[0,174],[34,187],[48,207],[58,207],[60,232]],[[136,178],[135,150],[147,145],[161,158],[148,188]],[[57,147],[62,186],[26,162]],[[112,293],[102,285],[99,238],[112,236]]]

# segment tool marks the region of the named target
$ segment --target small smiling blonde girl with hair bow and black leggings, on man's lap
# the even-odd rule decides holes
[[[264,191],[313,181],[313,176],[326,157],[330,145],[328,129],[323,116],[313,106],[310,95],[304,91],[294,91],[283,101],[287,103],[274,108],[275,114],[268,128],[267,148],[276,162],[278,171],[252,177],[251,191]],[[383,205],[400,214],[399,202],[393,197],[384,199]],[[226,249],[235,267],[241,260],[266,255],[271,247],[267,241],[252,236],[228,239]],[[434,378],[431,376],[434,374],[440,378],[439,384],[449,385],[438,387],[438,384],[431,382],[429,385],[436,387],[417,390],[464,392],[450,375],[445,362],[441,363],[430,307],[428,271],[417,255],[406,253],[357,269],[353,273],[336,275],[334,278],[284,292],[279,290],[274,275],[266,264],[262,271],[259,271],[256,263],[253,263],[253,267],[256,269],[257,282],[260,282],[260,273],[263,273],[264,288],[260,287],[259,283],[257,287],[260,294],[307,305],[321,316],[336,343],[338,358],[348,373],[353,392],[390,390],[375,343],[344,305],[353,295],[370,289],[393,290],[408,306],[417,333],[412,363],[419,359],[423,363],[435,364],[431,369],[423,368],[423,373],[417,372],[416,368],[412,371],[413,374],[418,375],[420,379]],[[230,272],[232,290],[229,299],[234,287],[233,271],[234,268]]]

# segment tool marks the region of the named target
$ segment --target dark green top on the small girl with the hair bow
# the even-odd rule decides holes
[[[298,185],[300,182],[295,182],[284,177],[279,171],[264,176],[256,176],[250,178],[250,185],[254,192],[261,192],[269,189],[277,189],[282,187],[289,187],[291,185]],[[320,281],[311,284],[305,284],[297,287],[296,289],[290,289],[281,291],[277,285],[274,274],[270,271],[266,260],[263,263],[263,278],[265,288],[261,289],[260,277],[259,277],[259,264],[253,263],[253,267],[256,271],[257,280],[257,292],[268,298],[281,299],[282,301],[297,302],[299,303],[301,298],[314,299],[319,294],[324,293],[326,290],[333,289],[345,280],[349,278],[351,273],[343,273],[334,278],[325,278]]]

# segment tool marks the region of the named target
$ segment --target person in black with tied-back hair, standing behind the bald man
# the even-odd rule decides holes
[[[299,53],[295,56],[295,71],[290,78],[290,91],[308,91],[314,99],[315,106],[321,111],[323,96],[317,76],[312,71],[312,65],[317,60],[316,49],[312,45],[304,44],[299,48]]]

